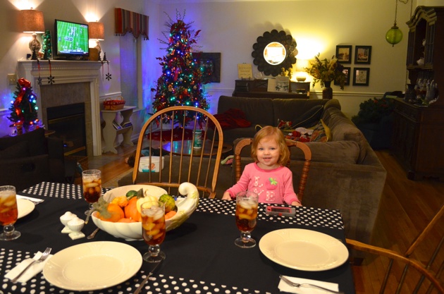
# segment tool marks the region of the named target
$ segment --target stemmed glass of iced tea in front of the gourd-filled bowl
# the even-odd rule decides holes
[[[142,215],[142,235],[145,243],[149,245],[148,252],[143,255],[146,262],[161,262],[165,253],[161,252],[160,245],[164,242],[166,234],[165,203],[148,201],[140,205]]]

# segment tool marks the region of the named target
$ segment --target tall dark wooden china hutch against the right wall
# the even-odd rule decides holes
[[[418,6],[407,25],[409,80],[436,82],[438,99],[429,105],[396,99],[391,152],[407,178],[444,180],[444,6]]]

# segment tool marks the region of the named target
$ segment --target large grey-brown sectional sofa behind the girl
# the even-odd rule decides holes
[[[319,109],[319,105],[322,106],[321,111],[313,117],[313,109]],[[238,138],[253,137],[257,125],[276,126],[279,121],[292,121],[299,126],[308,127],[314,123],[310,119],[322,119],[331,132],[331,140],[307,142],[312,150],[312,164],[302,204],[307,207],[339,209],[343,215],[347,238],[370,243],[386,181],[386,169],[361,131],[340,110],[337,99],[221,96],[217,113],[224,114],[230,109],[242,110],[245,120],[251,122],[247,128],[223,130],[224,141],[233,145]],[[307,113],[311,115],[307,116]],[[301,117],[304,119],[301,120]],[[307,122],[305,125],[304,121]],[[303,164],[302,152],[291,150],[290,160],[293,182],[298,183]],[[250,162],[252,159],[249,157],[249,150],[246,154],[242,152],[242,169]],[[222,166],[221,171],[224,168]],[[231,184],[235,183],[234,171],[235,166],[231,169]],[[218,185],[219,183],[221,173]]]

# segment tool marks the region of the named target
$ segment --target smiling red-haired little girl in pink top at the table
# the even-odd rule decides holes
[[[259,195],[259,202],[302,206],[293,190],[292,173],[285,166],[290,151],[283,133],[272,126],[261,128],[254,135],[252,158],[238,183],[223,193],[223,200],[231,200],[241,191],[252,191]]]

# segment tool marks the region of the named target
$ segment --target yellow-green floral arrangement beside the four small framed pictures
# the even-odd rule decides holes
[[[312,75],[313,87],[317,82],[321,82],[321,87],[330,87],[331,81],[335,81],[340,85],[340,89],[344,90],[347,76],[343,73],[344,66],[338,63],[338,59],[333,55],[331,60],[319,59],[320,53],[314,56],[314,61],[310,62],[308,68],[304,68],[309,75]]]

